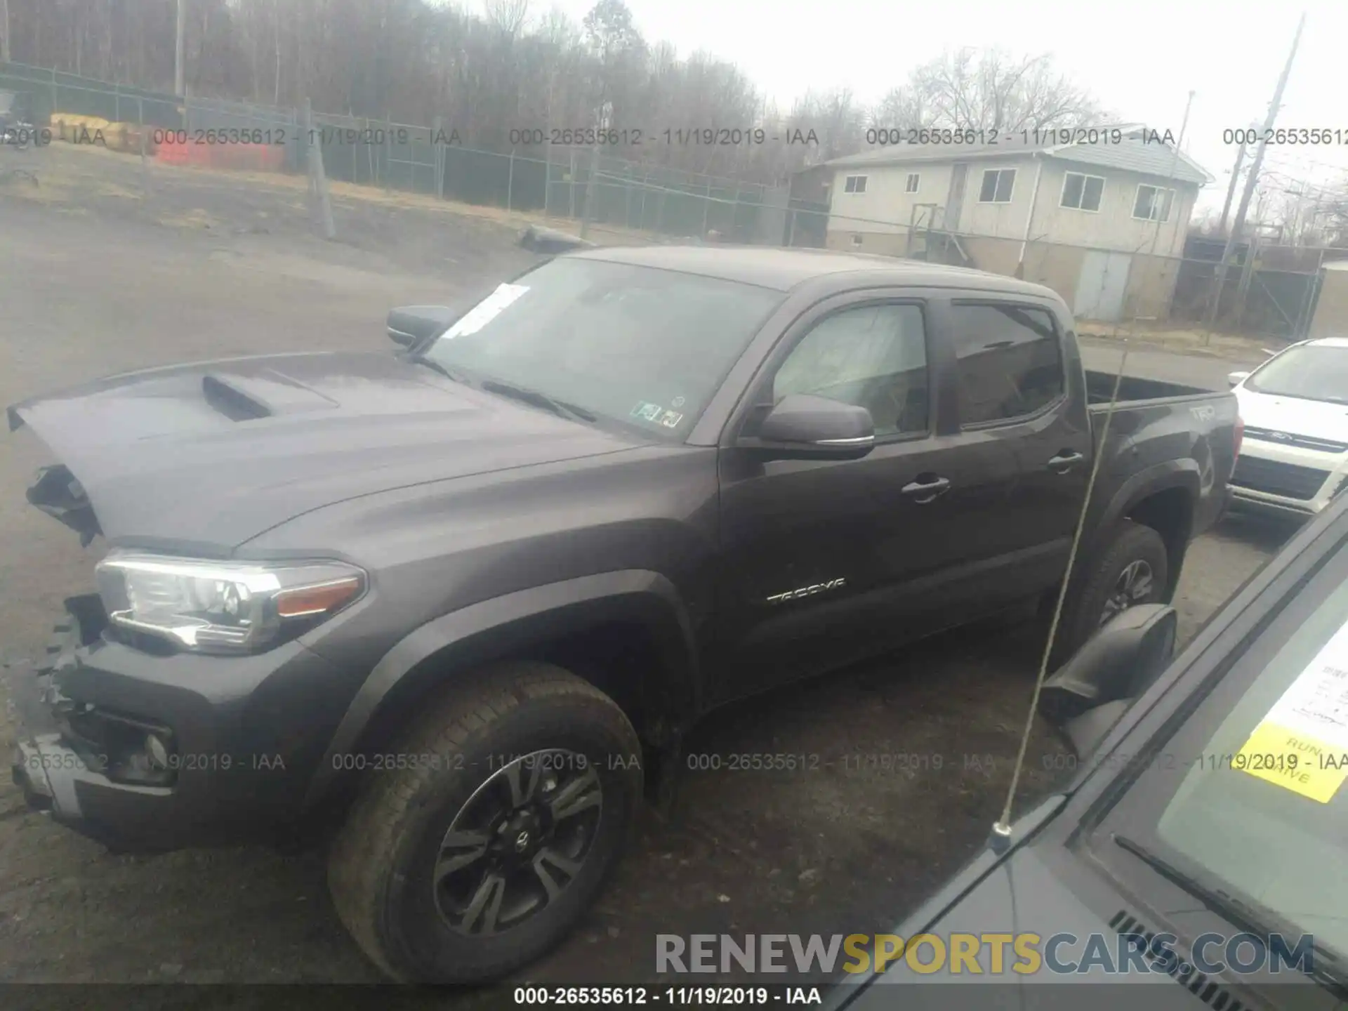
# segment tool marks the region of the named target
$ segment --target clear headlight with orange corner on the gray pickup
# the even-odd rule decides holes
[[[271,566],[113,551],[97,576],[113,625],[197,652],[275,646],[365,592],[365,573],[340,562]]]

